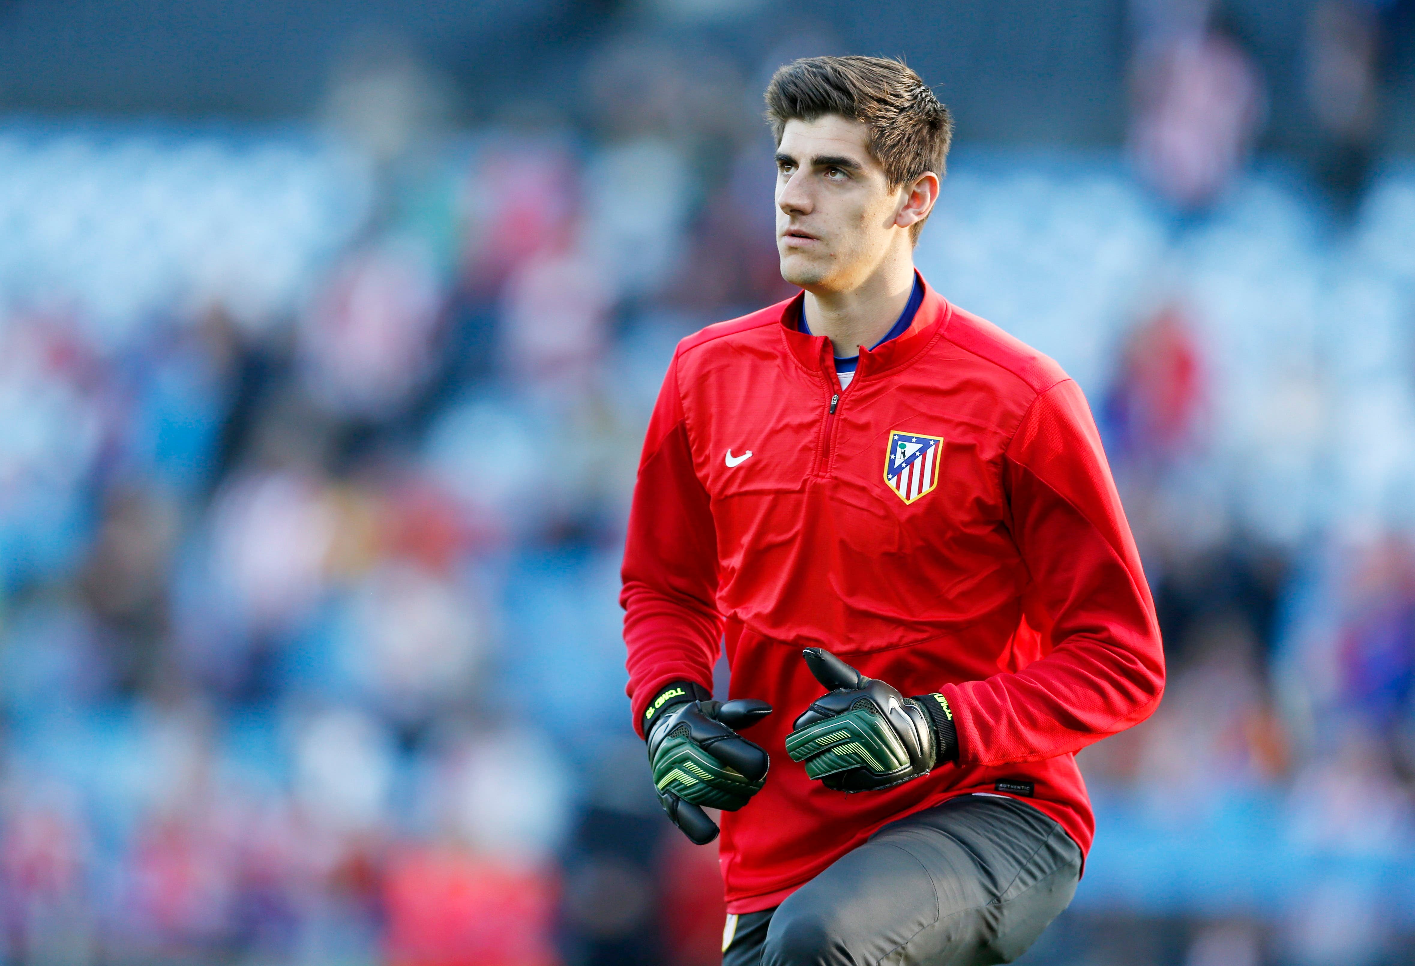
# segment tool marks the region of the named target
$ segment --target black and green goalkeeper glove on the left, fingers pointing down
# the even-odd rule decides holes
[[[771,706],[753,699],[713,702],[700,685],[675,682],[644,714],[648,762],[664,812],[693,843],[717,837],[703,806],[736,812],[767,781],[767,752],[734,728],[751,727]]]

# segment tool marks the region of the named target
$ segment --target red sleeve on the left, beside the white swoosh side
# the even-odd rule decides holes
[[[624,546],[624,644],[634,727],[669,682],[712,687],[722,639],[717,536],[693,470],[674,356],[649,419]]]

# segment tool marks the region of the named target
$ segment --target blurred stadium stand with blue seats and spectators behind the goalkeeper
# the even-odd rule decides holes
[[[716,962],[621,532],[822,52],[955,110],[918,263],[1082,385],[1160,608],[1024,962],[1415,963],[1412,7],[0,3],[0,963]]]

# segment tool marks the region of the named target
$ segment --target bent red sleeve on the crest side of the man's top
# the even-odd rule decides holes
[[[1033,402],[1003,461],[1013,540],[1044,656],[947,685],[961,764],[1074,752],[1145,720],[1165,687],[1155,604],[1099,434],[1065,379]],[[1050,652],[1046,652],[1050,646]]]

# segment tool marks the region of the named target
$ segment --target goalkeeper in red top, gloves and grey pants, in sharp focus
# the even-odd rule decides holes
[[[1081,390],[913,267],[947,109],[862,57],[766,98],[804,291],[664,379],[624,556],[634,723],[693,842],[726,809],[724,963],[1010,962],[1091,843],[1074,752],[1159,703],[1153,604]]]

